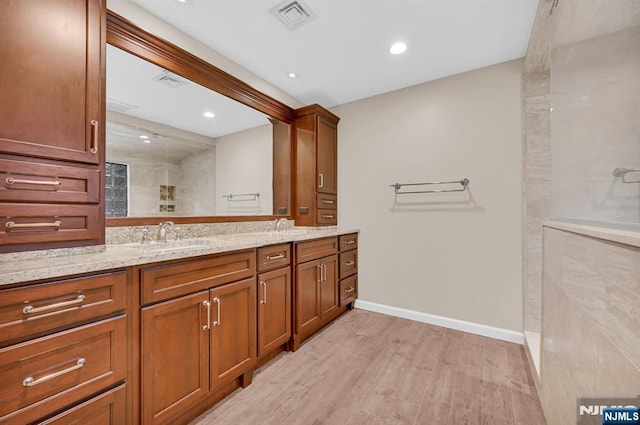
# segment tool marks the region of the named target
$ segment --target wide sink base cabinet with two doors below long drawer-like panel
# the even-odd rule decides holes
[[[255,250],[143,266],[139,276],[143,424],[187,423],[226,395],[220,388],[251,383]]]

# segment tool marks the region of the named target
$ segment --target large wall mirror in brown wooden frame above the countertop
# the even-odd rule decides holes
[[[107,225],[290,213],[293,110],[108,13]]]

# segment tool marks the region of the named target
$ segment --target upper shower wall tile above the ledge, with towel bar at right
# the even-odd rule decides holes
[[[640,223],[640,183],[613,175],[640,169],[640,27],[555,49],[551,74],[552,216]]]

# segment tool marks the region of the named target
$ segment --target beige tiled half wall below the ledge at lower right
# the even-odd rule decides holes
[[[579,397],[640,394],[640,248],[544,229],[539,386],[548,424]]]

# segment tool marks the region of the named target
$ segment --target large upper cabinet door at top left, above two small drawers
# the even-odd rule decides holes
[[[98,164],[104,0],[0,2],[0,151]]]

